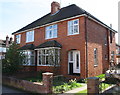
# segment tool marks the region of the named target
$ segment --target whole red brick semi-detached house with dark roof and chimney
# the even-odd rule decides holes
[[[115,33],[75,4],[60,8],[52,2],[50,13],[12,34],[28,56],[25,70],[86,78],[104,73],[115,61]]]

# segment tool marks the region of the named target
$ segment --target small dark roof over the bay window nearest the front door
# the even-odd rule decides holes
[[[62,45],[59,44],[59,43],[58,43],[57,41],[55,41],[55,40],[51,40],[51,41],[47,41],[47,42],[45,42],[45,43],[40,44],[40,45],[37,46],[35,49],[37,49],[37,48],[47,48],[47,47],[59,47],[59,48],[61,48]]]

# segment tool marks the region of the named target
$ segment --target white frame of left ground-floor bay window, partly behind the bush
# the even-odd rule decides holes
[[[33,55],[25,55],[26,57],[27,57],[27,61],[28,61],[28,63],[26,63],[26,64],[24,64],[25,66],[35,66],[35,51],[33,51],[33,50],[23,50],[23,52],[24,52],[24,54],[25,54],[25,52],[27,52],[27,54],[28,54],[28,52],[33,52]],[[33,64],[31,64],[31,56],[33,56]]]

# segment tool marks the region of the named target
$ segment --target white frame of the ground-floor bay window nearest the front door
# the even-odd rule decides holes
[[[41,48],[41,49],[36,49],[36,50],[38,50],[37,51],[37,66],[54,66],[54,65],[52,65],[52,64],[50,64],[50,63],[48,63],[47,65],[46,65],[46,56],[49,56],[49,54],[43,54],[43,52],[42,52],[42,50],[45,50],[45,52],[46,52],[46,50],[50,50],[50,49],[53,49],[53,50],[55,50],[55,49],[57,49],[58,50],[58,65],[56,65],[56,66],[60,66],[60,49],[61,48],[58,48],[58,47],[49,47],[49,48]],[[45,63],[43,64],[42,63],[42,60],[41,60],[41,64],[39,64],[39,56],[40,56],[40,54],[39,54],[39,52],[41,52],[41,56],[45,56]],[[53,57],[54,57],[54,61],[56,61],[55,60],[55,51],[53,51],[54,52],[54,55],[53,55]]]

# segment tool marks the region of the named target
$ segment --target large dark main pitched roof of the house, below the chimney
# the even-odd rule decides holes
[[[49,24],[49,23],[52,23],[52,22],[55,22],[55,21],[60,21],[60,20],[67,19],[67,18],[70,18],[70,17],[83,15],[83,14],[89,15],[93,19],[95,19],[98,22],[104,24],[103,22],[101,22],[100,20],[95,18],[90,13],[86,12],[82,8],[76,6],[75,4],[72,4],[72,5],[69,5],[67,7],[61,8],[59,10],[59,12],[56,13],[56,14],[51,15],[51,13],[48,13],[47,15],[37,19],[36,21],[28,24],[27,26],[19,29],[18,31],[16,31],[16,32],[14,32],[12,34],[15,34],[15,33],[21,32],[21,31],[25,31],[25,30],[28,30],[28,29],[32,29],[32,28],[35,28],[35,27],[38,27],[38,26],[46,25],[46,24]],[[107,26],[106,24],[104,24],[104,25]],[[110,28],[110,27],[108,27],[108,28]]]

